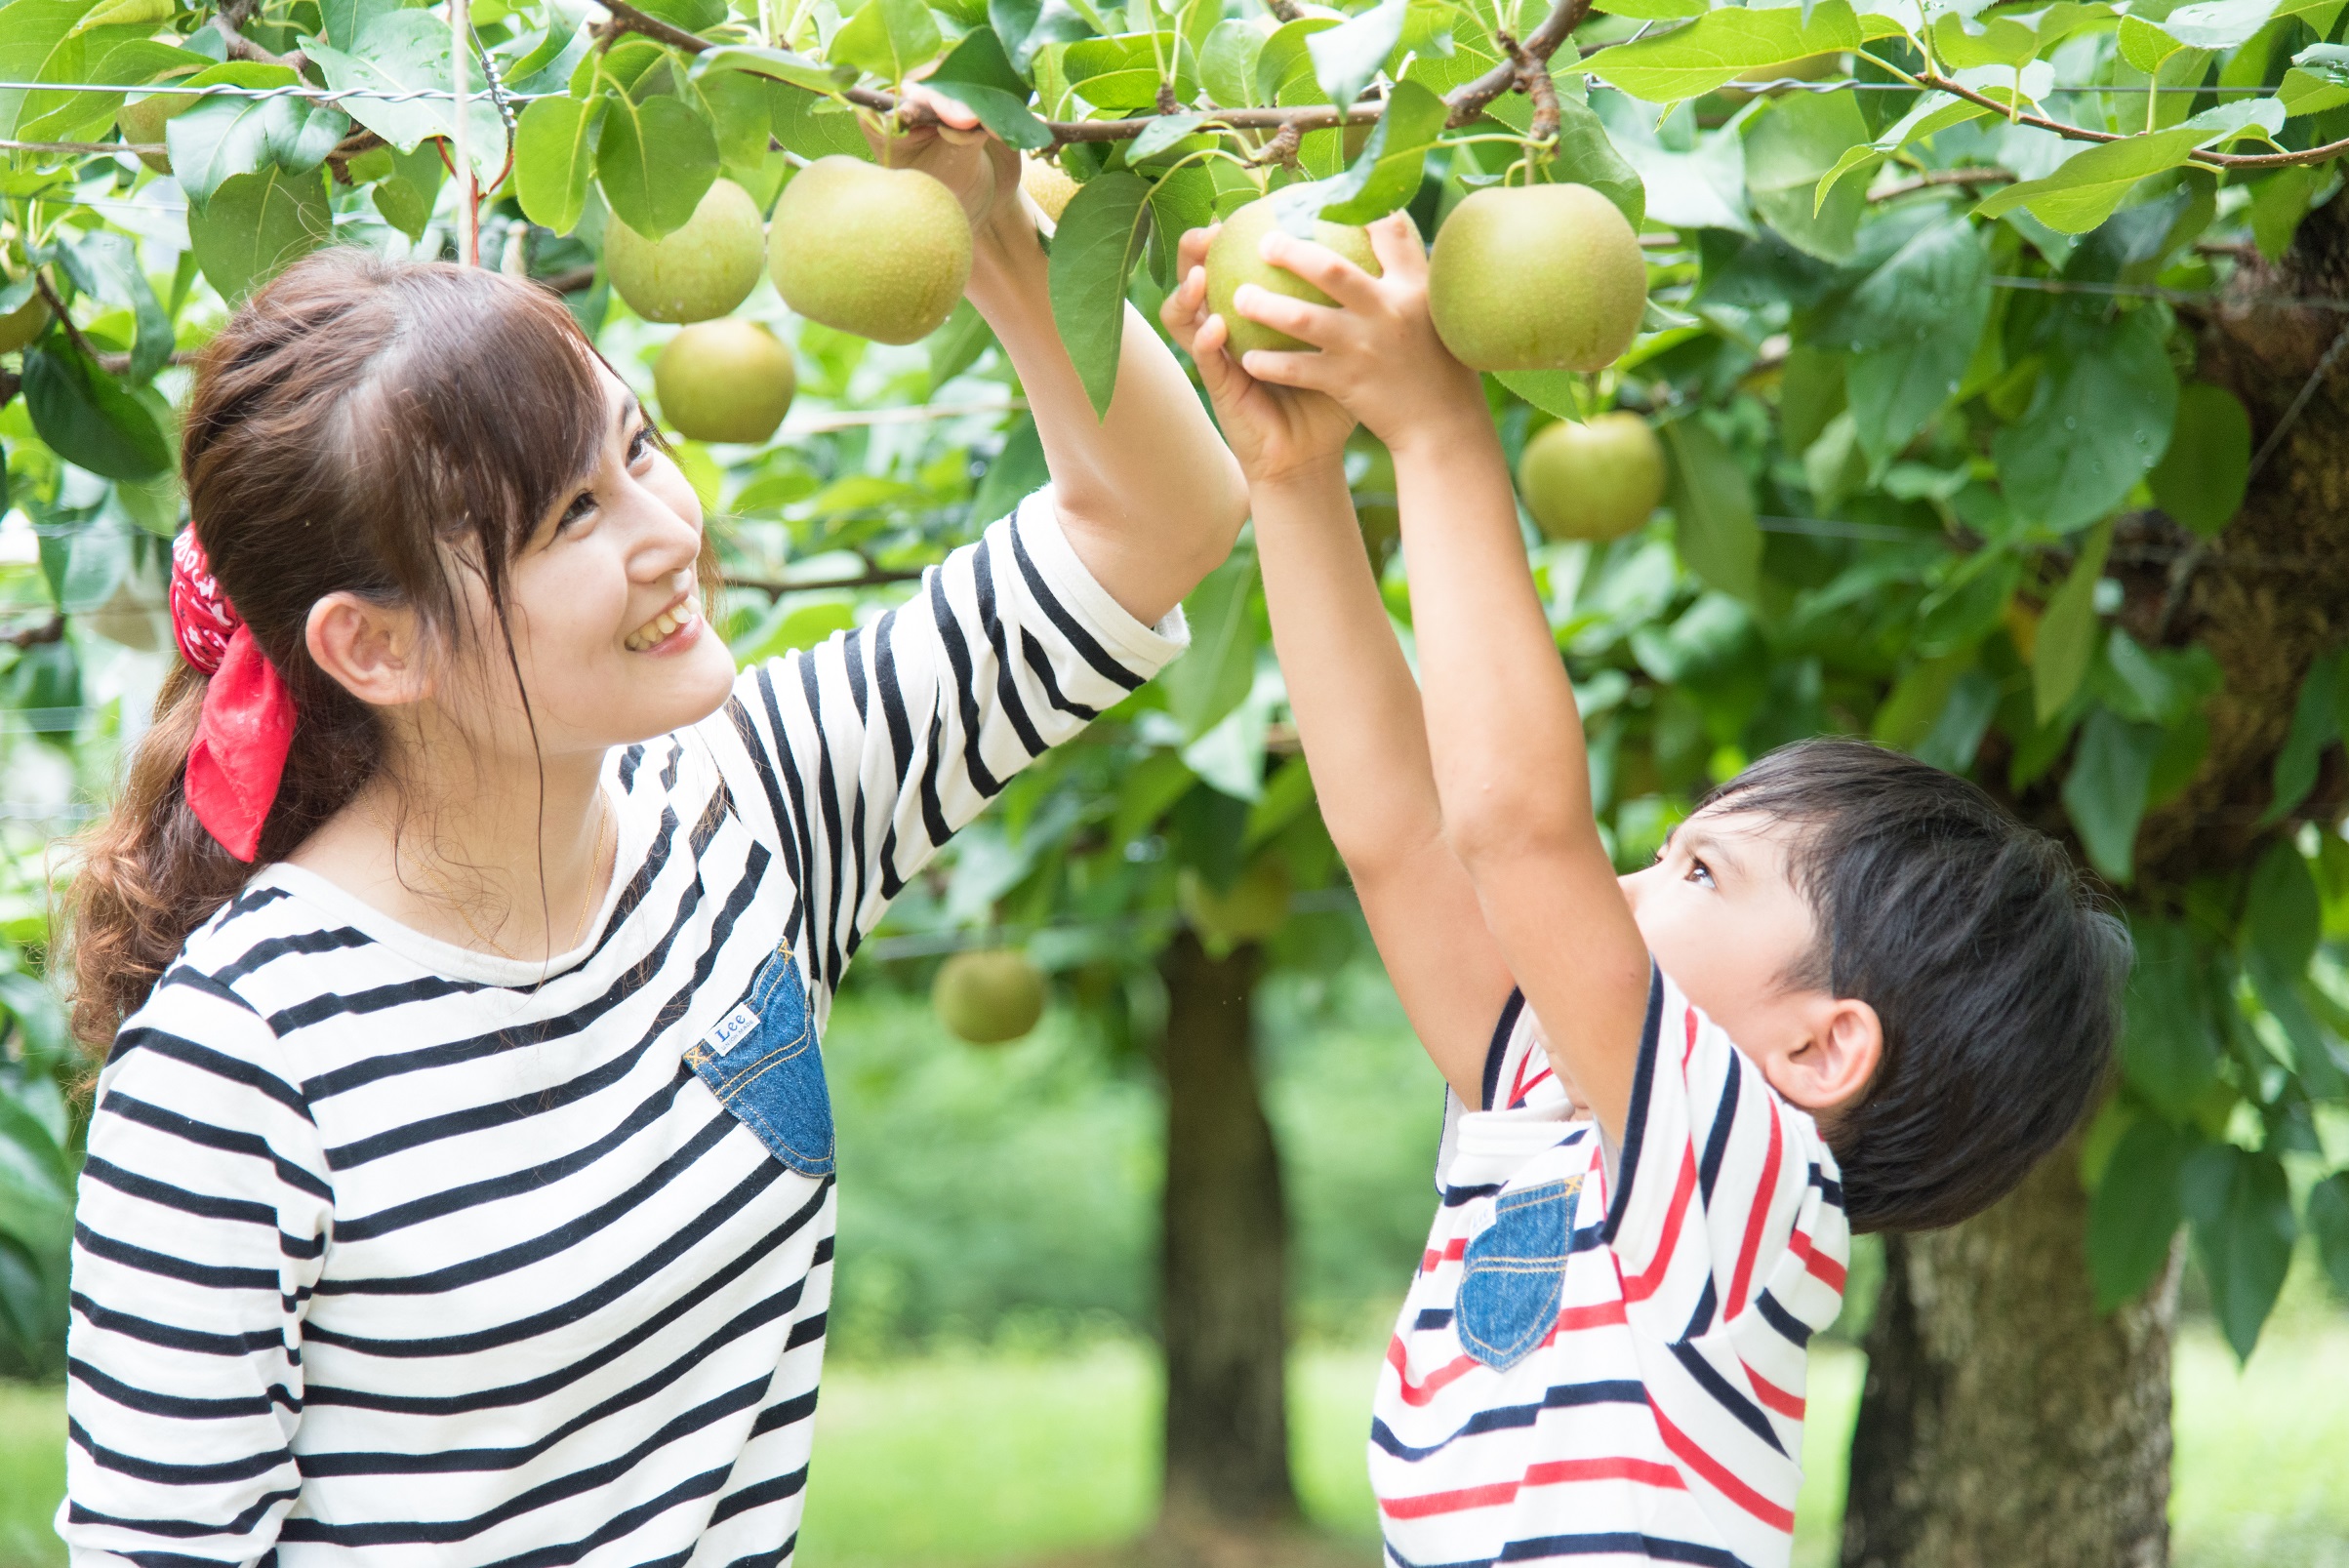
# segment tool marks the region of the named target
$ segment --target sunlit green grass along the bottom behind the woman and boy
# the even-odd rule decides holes
[[[1362,1432],[1377,1354],[1306,1350],[1292,1371],[1297,1488],[1313,1523],[1367,1542]],[[1858,1352],[1811,1359],[1797,1568],[1830,1568]],[[2203,1326],[2178,1345],[2180,1568],[2349,1568],[2349,1322],[2276,1324],[2246,1371]],[[815,1415],[803,1568],[982,1568],[1083,1552],[1149,1523],[1158,1387],[1149,1350],[958,1350],[843,1361]],[[63,1397],[0,1385],[0,1568],[61,1563]]]

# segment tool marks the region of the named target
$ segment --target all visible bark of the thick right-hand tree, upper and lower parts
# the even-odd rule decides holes
[[[2170,908],[2194,878],[2239,871],[2290,831],[2260,822],[2276,751],[2309,667],[2349,641],[2349,315],[2288,300],[2344,296],[2349,195],[2311,214],[2279,263],[2246,265],[2194,324],[2194,373],[2243,399],[2255,453],[2271,444],[2243,512],[2208,547],[2159,512],[2116,535],[2121,624],[2147,643],[2199,641],[2225,671],[2199,775],[2138,836],[2138,878],[2121,890],[2133,908]],[[2349,770],[2330,753],[2295,817],[2337,819],[2344,798]],[[2015,805],[2065,831],[2053,782]],[[2168,1561],[2185,1253],[2145,1300],[2098,1317],[2074,1171],[2065,1148],[1997,1209],[1889,1237],[1851,1444],[1846,1568]]]

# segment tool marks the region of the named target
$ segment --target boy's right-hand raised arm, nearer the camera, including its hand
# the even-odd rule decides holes
[[[1647,1012],[1647,946],[1590,812],[1574,685],[1534,592],[1480,383],[1428,322],[1428,263],[1409,218],[1386,218],[1372,235],[1384,277],[1304,239],[1268,244],[1268,258],[1339,310],[1264,296],[1252,315],[1320,352],[1259,350],[1245,369],[1337,397],[1395,453],[1445,838],[1553,1061],[1618,1145]]]

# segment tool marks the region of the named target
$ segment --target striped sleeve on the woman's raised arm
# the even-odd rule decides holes
[[[1095,582],[1038,491],[874,624],[747,669],[712,723],[749,751],[740,807],[799,887],[810,984],[836,986],[907,878],[1184,638],[1182,610],[1144,627]]]

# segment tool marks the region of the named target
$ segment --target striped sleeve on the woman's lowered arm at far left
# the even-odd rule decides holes
[[[270,1028],[179,969],[99,1077],[73,1239],[75,1566],[254,1563],[301,1474],[327,1157]]]

